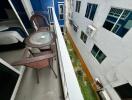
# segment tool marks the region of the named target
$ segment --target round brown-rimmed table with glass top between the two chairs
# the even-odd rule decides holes
[[[32,33],[26,38],[26,45],[29,47],[42,48],[51,45],[55,41],[55,33],[48,30],[41,30]]]

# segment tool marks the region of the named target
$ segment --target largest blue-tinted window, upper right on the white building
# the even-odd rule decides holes
[[[132,27],[132,11],[111,8],[103,27],[120,37],[124,37]]]

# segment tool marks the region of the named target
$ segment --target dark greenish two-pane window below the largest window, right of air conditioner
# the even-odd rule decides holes
[[[99,63],[106,58],[106,55],[96,45],[93,46],[91,53]]]

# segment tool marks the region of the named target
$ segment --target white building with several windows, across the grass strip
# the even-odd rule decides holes
[[[68,0],[66,28],[112,100],[132,98],[132,1]]]

